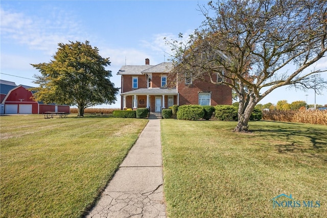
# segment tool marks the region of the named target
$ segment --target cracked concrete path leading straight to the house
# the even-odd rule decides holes
[[[149,119],[87,218],[166,217],[160,119]]]

